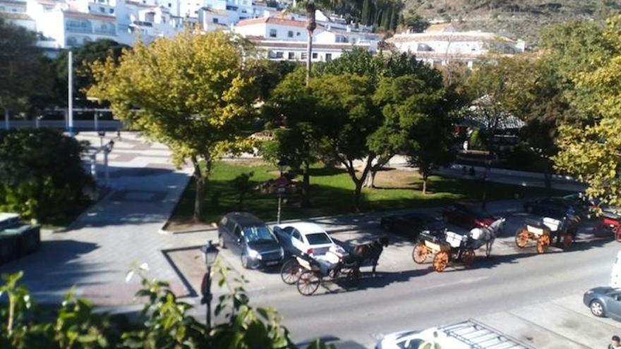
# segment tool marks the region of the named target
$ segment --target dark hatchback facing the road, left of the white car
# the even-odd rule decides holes
[[[246,212],[225,214],[218,223],[220,247],[241,257],[241,265],[258,269],[280,264],[284,251],[263,221]]]

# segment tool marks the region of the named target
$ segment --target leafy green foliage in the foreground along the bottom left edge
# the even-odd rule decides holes
[[[145,300],[141,322],[96,313],[92,303],[76,298],[70,291],[56,310],[37,307],[24,286],[18,285],[23,272],[3,275],[0,298],[8,298],[0,311],[0,348],[274,348],[295,349],[289,331],[273,308],[251,307],[243,288],[246,280],[232,276],[231,269],[217,262],[214,268],[220,295],[216,316],[226,322],[207,330],[205,324],[188,315],[192,305],[176,298],[168,283],[147,277],[143,264],[128,273],[141,278],[136,297]],[[308,349],[328,348],[316,341]]]

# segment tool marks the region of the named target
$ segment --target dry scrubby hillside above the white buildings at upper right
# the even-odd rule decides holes
[[[457,20],[462,30],[497,32],[535,44],[547,25],[572,18],[603,22],[621,0],[404,0],[427,20]]]

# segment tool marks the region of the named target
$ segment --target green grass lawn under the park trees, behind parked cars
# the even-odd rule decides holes
[[[274,166],[259,161],[219,161],[213,166],[205,193],[203,213],[205,223],[215,222],[223,214],[236,210],[251,212],[266,221],[276,220],[277,196],[275,194],[263,194],[258,190],[253,190],[246,195],[243,207],[239,207],[239,195],[232,180],[241,173],[249,172],[254,173],[251,178],[253,186],[278,177],[278,171]],[[283,205],[283,220],[352,212],[354,183],[344,170],[315,166],[310,175],[311,207],[302,209],[297,204],[298,199],[291,197],[289,202]],[[301,178],[296,179],[301,180]],[[485,184],[481,180],[431,176],[428,182],[428,193],[423,195],[422,182],[416,171],[397,169],[380,171],[375,177],[375,185],[378,188],[363,189],[361,209],[367,212],[434,207],[455,200],[480,202]],[[524,188],[500,183],[487,183],[487,185],[488,200],[545,195],[545,190],[542,188]],[[191,181],[171,216],[168,226],[170,230],[183,230],[192,226],[194,194],[194,183]]]

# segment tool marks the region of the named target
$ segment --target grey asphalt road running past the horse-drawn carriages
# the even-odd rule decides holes
[[[244,273],[250,280],[248,294],[254,305],[276,307],[299,343],[325,338],[339,341],[339,348],[372,348],[378,333],[450,324],[567,298],[609,283],[619,243],[593,240],[590,234],[581,233],[569,251],[550,248],[545,255],[537,255],[533,247],[517,250],[512,235],[526,214],[518,212],[515,202],[489,209],[508,217],[505,233],[497,240],[493,256],[486,259],[478,253],[470,269],[456,265],[437,273],[430,264],[414,264],[414,242],[391,235],[377,276],[370,275],[370,267],[363,267],[363,280],[356,289],[326,283],[315,295],[305,297],[295,286],[282,283],[278,271],[248,271]],[[352,243],[377,236],[377,218],[319,222],[334,238]],[[229,254],[222,252],[237,268],[238,258]]]

